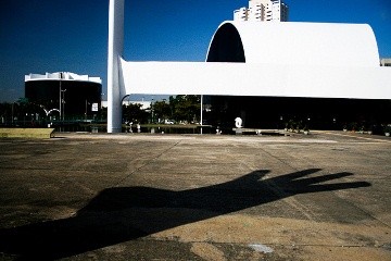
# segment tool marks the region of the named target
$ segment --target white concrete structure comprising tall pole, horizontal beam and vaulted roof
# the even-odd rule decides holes
[[[375,103],[391,99],[391,71],[379,64],[369,25],[226,21],[212,37],[206,62],[131,62],[123,57],[124,0],[110,3],[109,133],[121,132],[121,102],[127,95],[358,99]],[[278,102],[273,105],[279,108]]]

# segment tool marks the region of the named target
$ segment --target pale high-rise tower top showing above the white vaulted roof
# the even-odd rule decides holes
[[[249,8],[234,11],[234,21],[287,22],[288,14],[281,0],[249,0]]]

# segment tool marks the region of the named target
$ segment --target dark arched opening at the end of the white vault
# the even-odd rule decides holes
[[[213,37],[206,62],[245,62],[243,44],[232,24],[224,24]]]

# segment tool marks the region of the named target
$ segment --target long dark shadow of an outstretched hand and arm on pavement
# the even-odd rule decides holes
[[[227,183],[182,191],[108,188],[73,217],[1,229],[0,252],[22,259],[64,258],[298,194],[370,186],[366,182],[319,184],[353,174],[308,176],[318,171],[269,178],[265,178],[269,171],[257,171]]]

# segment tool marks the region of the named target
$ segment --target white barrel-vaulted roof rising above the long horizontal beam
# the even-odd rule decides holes
[[[240,35],[245,62],[330,66],[380,65],[376,37],[367,24],[223,22]]]

